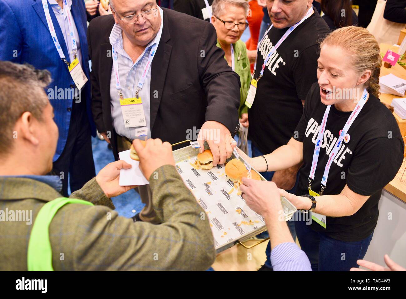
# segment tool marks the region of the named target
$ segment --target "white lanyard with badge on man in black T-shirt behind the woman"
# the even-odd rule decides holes
[[[245,100],[245,105],[248,108],[251,108],[253,103],[254,103],[254,99],[255,99],[255,94],[257,93],[257,83],[259,81],[259,79],[262,78],[263,76],[263,72],[265,70],[266,64],[268,63],[270,57],[272,56],[272,54],[274,54],[274,52],[276,51],[276,49],[279,48],[279,46],[283,43],[283,41],[289,36],[289,34],[291,34],[293,32],[293,30],[295,30],[295,28],[297,26],[299,26],[300,24],[302,24],[304,22],[304,20],[307,20],[313,13],[313,6],[311,6],[309,8],[309,10],[307,11],[306,15],[304,15],[304,17],[297,22],[296,24],[294,24],[293,26],[291,26],[286,32],[285,34],[281,37],[281,39],[279,39],[279,41],[272,46],[272,48],[270,49],[268,55],[265,57],[264,61],[263,61],[263,65],[262,65],[262,69],[261,72],[259,73],[259,77],[257,79],[254,79],[255,76],[255,70],[257,69],[257,59],[258,59],[258,51],[259,51],[259,45],[261,44],[261,42],[263,41],[263,39],[266,37],[266,35],[268,34],[269,30],[271,30],[271,28],[273,27],[273,25],[271,25],[268,30],[266,30],[265,34],[263,35],[263,37],[261,38],[261,41],[259,41],[258,45],[257,45],[257,56],[255,56],[255,64],[254,64],[254,73],[253,73],[253,78],[251,80],[251,85],[250,88],[248,90],[248,95],[247,95],[247,99]]]

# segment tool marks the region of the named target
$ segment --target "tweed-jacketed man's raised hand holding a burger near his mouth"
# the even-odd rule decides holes
[[[161,139],[148,139],[145,142],[135,139],[132,142],[132,145],[139,157],[140,169],[147,179],[149,179],[151,174],[161,166],[175,166],[175,160],[172,155],[172,146],[171,143],[167,141],[162,143]]]

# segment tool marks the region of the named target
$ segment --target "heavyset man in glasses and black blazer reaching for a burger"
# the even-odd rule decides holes
[[[129,148],[139,128],[124,128],[118,94],[121,99],[140,95],[148,137],[170,143],[198,139],[201,147],[206,140],[214,165],[224,163],[236,145],[232,136],[239,128],[240,79],[216,46],[212,24],[161,9],[154,0],[110,0],[110,6],[112,15],[90,23],[88,42],[93,117],[99,132],[111,142],[114,157]],[[154,55],[149,69],[148,54]],[[147,70],[141,89],[140,69]],[[190,135],[199,128],[198,137]],[[153,222],[153,216],[143,212],[141,219]]]

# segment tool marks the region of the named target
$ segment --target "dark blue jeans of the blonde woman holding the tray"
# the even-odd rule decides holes
[[[352,267],[358,268],[356,261],[364,258],[374,234],[361,241],[346,242],[315,232],[306,221],[296,221],[295,227],[300,247],[307,254],[313,271],[349,271]]]

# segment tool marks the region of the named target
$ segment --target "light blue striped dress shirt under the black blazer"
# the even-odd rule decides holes
[[[118,24],[114,24],[110,33],[110,43],[114,46],[114,50],[117,52],[118,58],[118,72],[121,83],[121,93],[123,93],[124,98],[134,98],[137,84],[141,78],[141,74],[144,71],[145,65],[147,64],[149,51],[155,45],[158,45],[162,26],[163,26],[163,15],[164,12],[158,6],[158,10],[161,15],[161,25],[158,34],[155,38],[147,45],[144,52],[137,58],[135,63],[132,62],[130,56],[125,52],[123,48],[123,36],[121,27]],[[111,69],[111,79],[110,79],[110,98],[111,98],[111,117],[113,120],[114,130],[117,134],[127,137],[130,140],[138,138],[135,134],[136,129],[142,127],[132,127],[125,128],[123,113],[121,112],[120,106],[120,96],[119,91],[116,88],[116,81],[114,76],[114,67]],[[145,114],[145,121],[148,127],[148,136],[151,138],[151,111],[150,111],[150,86],[151,86],[151,67],[148,70],[147,76],[145,77],[145,82],[143,88],[139,91],[139,96],[143,101],[143,109]]]

